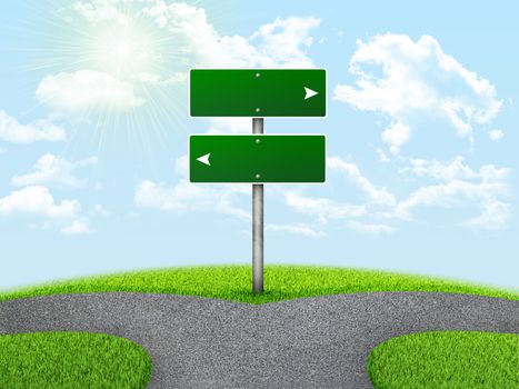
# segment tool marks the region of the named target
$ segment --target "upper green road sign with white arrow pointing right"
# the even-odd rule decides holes
[[[191,117],[325,117],[325,69],[192,69]]]

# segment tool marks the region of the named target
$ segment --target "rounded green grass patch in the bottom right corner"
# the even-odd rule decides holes
[[[379,345],[368,359],[376,389],[519,388],[519,336],[423,332]]]

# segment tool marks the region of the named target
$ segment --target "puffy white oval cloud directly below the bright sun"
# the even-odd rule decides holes
[[[144,103],[134,94],[131,83],[93,70],[47,76],[38,86],[36,96],[41,103],[64,113],[121,111]]]

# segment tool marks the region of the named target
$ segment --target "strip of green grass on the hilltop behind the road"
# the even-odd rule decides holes
[[[429,277],[375,270],[267,266],[266,292],[253,295],[248,266],[170,268],[69,280],[0,295],[1,300],[54,293],[132,291],[201,296],[250,303],[372,291],[472,293],[518,300],[519,293]]]

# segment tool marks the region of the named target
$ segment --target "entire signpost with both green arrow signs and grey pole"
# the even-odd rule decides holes
[[[251,117],[252,134],[190,136],[189,180],[252,183],[252,291],[263,291],[263,183],[326,181],[326,137],[263,134],[263,117],[325,117],[323,69],[192,69],[191,117]]]

